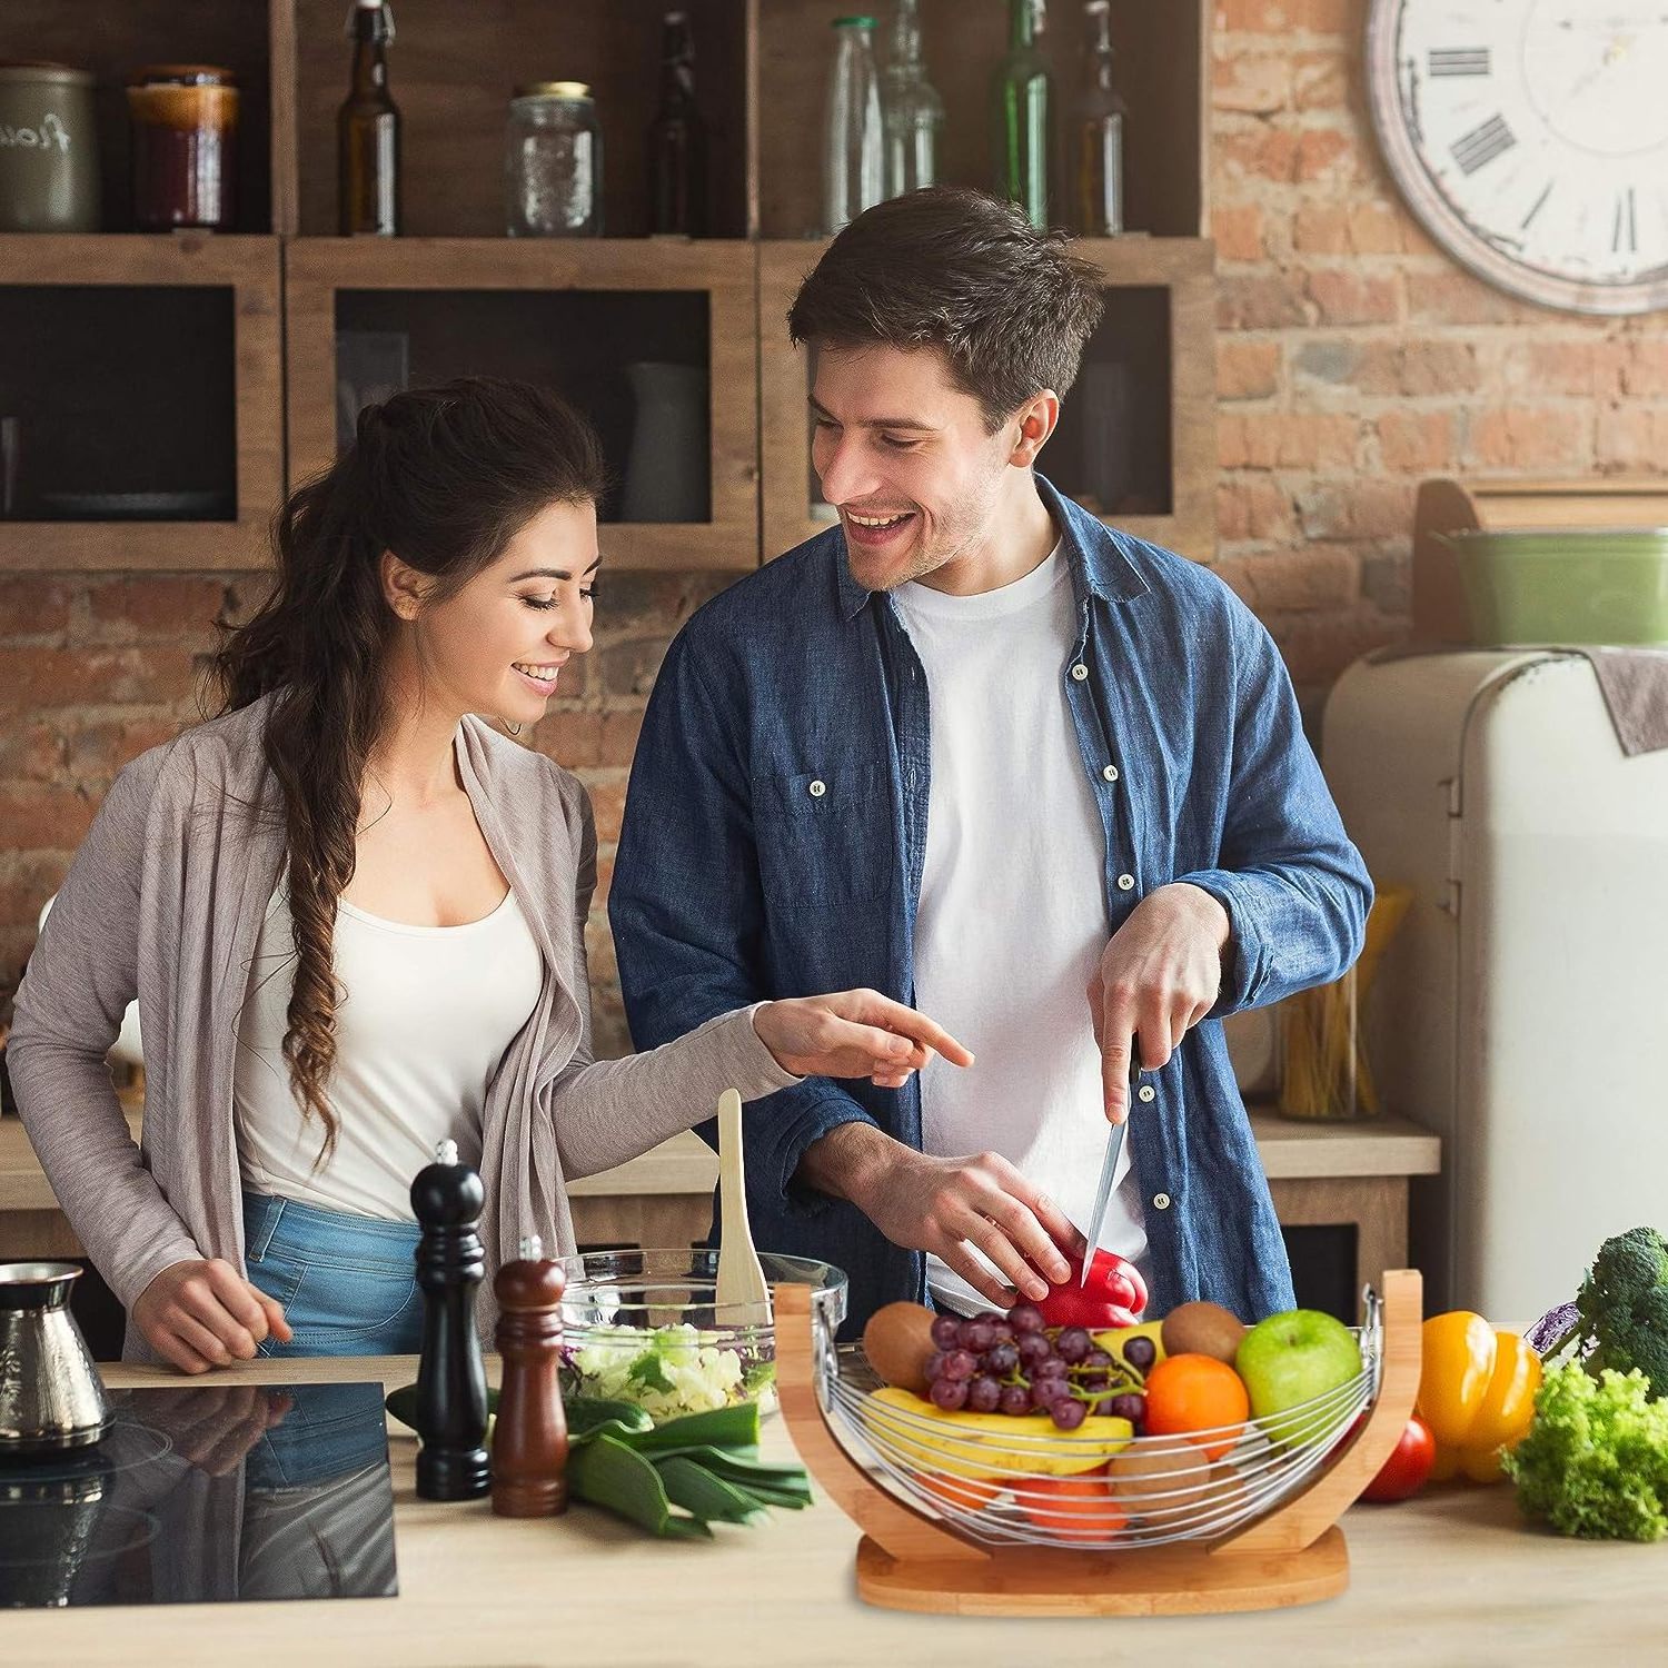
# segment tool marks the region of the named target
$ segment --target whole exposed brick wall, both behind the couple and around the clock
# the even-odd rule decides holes
[[[1214,37],[1221,572],[1313,712],[1406,615],[1416,482],[1645,472],[1668,459],[1668,332],[1543,312],[1468,277],[1403,212],[1359,88],[1364,0],[1221,0]],[[607,575],[597,647],[537,746],[612,839],[667,637],[719,579]],[[197,714],[232,575],[0,577],[0,1001],[110,777]],[[599,896],[599,904],[600,904]],[[600,1053],[626,1032],[600,909]]]

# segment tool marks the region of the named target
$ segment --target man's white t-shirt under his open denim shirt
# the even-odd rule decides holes
[[[927,677],[932,791],[916,914],[916,1004],[977,1054],[921,1074],[922,1148],[1001,1153],[1088,1231],[1111,1126],[1088,984],[1109,932],[1106,837],[1066,702],[1076,646],[1059,547],[974,597],[894,592]],[[1124,1146],[1104,1248],[1143,1264]],[[937,1258],[934,1296],[981,1298]]]

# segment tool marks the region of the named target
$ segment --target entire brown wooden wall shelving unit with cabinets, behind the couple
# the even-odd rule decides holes
[[[539,292],[701,292],[711,377],[711,519],[609,524],[610,562],[746,570],[827,525],[809,514],[804,372],[787,349],[782,314],[821,249],[794,239],[821,219],[832,10],[821,0],[691,0],[717,234],[691,244],[634,235],[647,227],[641,183],[664,10],[647,0],[395,0],[390,73],[404,118],[405,227],[414,235],[332,237],[335,110],[350,62],[344,8],[345,0],[112,0],[95,32],[75,8],[48,0],[13,0],[5,8],[0,57],[53,57],[98,75],[112,227],[130,224],[122,200],[125,75],[170,57],[235,68],[245,92],[240,220],[277,235],[0,239],[0,285],[229,284],[237,379],[235,520],[0,524],[0,569],[264,565],[267,519],[285,485],[334,455],[339,297],[355,292],[425,292],[430,300],[415,307],[424,320],[435,317],[442,292],[515,292],[534,309],[530,297]],[[1079,27],[1079,8],[1051,12],[1056,28]],[[947,112],[941,158],[947,182],[989,183],[987,93],[1006,45],[1004,17],[1001,0],[922,0],[927,70]],[[1216,469],[1213,260],[1203,242],[1209,225],[1209,0],[1119,3],[1113,17],[1129,105],[1126,219],[1149,235],[1084,245],[1106,272],[1108,289],[1123,292],[1091,344],[1086,377],[1093,382],[1096,364],[1121,352],[1119,329],[1144,355],[1133,369],[1136,410],[1146,425],[1133,472],[1146,479],[1124,509],[1114,505],[1108,515],[1139,537],[1208,559]],[[884,52],[884,28],[879,33]],[[1056,60],[1078,62],[1069,40],[1056,48]],[[1061,73],[1063,107],[1074,92],[1071,73]],[[572,242],[499,235],[509,97],[517,83],[544,77],[594,85],[605,220],[627,235]],[[20,244],[27,247],[13,247]],[[375,314],[379,304],[345,305]],[[395,307],[387,302],[387,310]],[[470,302],[459,317],[470,309],[490,324],[512,302]],[[559,320],[560,309],[544,317]],[[580,405],[587,392],[600,400],[599,420],[619,474],[619,437],[607,434],[609,410],[619,429],[617,379],[592,375],[589,389],[564,384],[554,362],[559,344],[547,335],[537,339],[537,364],[525,374],[544,374]],[[1156,350],[1158,337],[1164,354]],[[444,360],[445,374],[497,369],[475,362],[460,337],[440,345],[445,354],[435,364]],[[492,359],[490,350],[484,354]],[[620,357],[627,354],[646,357],[622,344]],[[419,364],[425,360],[414,345],[414,374]],[[1079,382],[1078,399],[1068,400],[1053,457],[1044,460],[1046,469],[1054,465],[1051,474],[1069,472],[1073,459],[1084,475],[1104,472],[1099,442],[1079,432],[1094,405],[1086,387]],[[1104,420],[1106,400],[1099,409]],[[1136,509],[1148,504],[1151,512]]]

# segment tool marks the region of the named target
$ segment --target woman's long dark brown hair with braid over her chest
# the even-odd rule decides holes
[[[282,794],[295,931],[284,1059],[302,1116],[324,1126],[320,1164],[339,1134],[329,1099],[337,899],[354,877],[399,626],[382,594],[382,552],[430,575],[427,600],[444,600],[540,510],[595,502],[602,489],[595,434],[545,389],[467,379],[367,407],[335,465],[279,510],[277,584],[215,657],[222,714],[272,697],[264,749]]]

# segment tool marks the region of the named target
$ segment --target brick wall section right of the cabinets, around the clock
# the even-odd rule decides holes
[[[1433,474],[1668,470],[1665,315],[1513,300],[1441,254],[1379,160],[1366,0],[1221,0],[1219,570],[1316,709],[1404,629]]]

